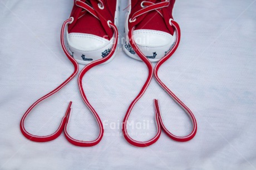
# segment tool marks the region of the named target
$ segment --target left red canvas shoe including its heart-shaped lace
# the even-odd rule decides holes
[[[99,115],[93,109],[86,98],[82,87],[82,78],[87,71],[99,64],[109,62],[115,54],[118,40],[118,31],[115,24],[119,16],[118,0],[75,0],[71,16],[67,19],[61,29],[61,45],[67,58],[74,66],[74,71],[60,86],[38,99],[24,113],[20,128],[22,134],[31,141],[48,142],[56,139],[64,130],[69,142],[81,147],[95,146],[99,143],[104,134],[104,128]],[[67,28],[67,31],[65,31]],[[64,34],[67,33],[68,46],[64,42]],[[68,119],[70,117],[71,104],[68,105],[65,116],[55,133],[48,136],[36,136],[26,131],[24,121],[31,110],[41,101],[60,91],[78,73],[78,63],[87,64],[78,75],[78,87],[86,106],[90,109],[97,123],[99,124],[99,136],[93,141],[80,141],[72,138],[67,132]]]

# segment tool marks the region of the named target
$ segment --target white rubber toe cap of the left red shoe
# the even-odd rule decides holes
[[[93,34],[67,34],[68,52],[81,64],[88,64],[106,57],[112,48],[113,42],[114,38],[109,41]]]

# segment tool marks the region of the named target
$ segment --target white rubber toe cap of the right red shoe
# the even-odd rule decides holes
[[[134,31],[134,41],[150,61],[159,61],[170,50],[175,37],[163,31],[139,29]]]

